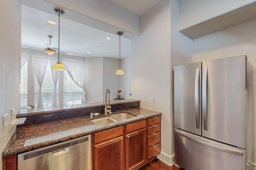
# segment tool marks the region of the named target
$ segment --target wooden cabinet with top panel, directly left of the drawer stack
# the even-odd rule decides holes
[[[146,120],[126,125],[126,170],[146,162]]]

